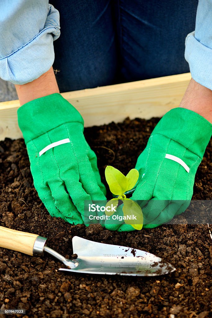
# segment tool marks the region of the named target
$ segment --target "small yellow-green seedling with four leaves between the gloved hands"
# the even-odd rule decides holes
[[[110,191],[114,195],[118,196],[108,201],[106,207],[111,206],[113,204],[113,206],[115,205],[117,208],[119,200],[121,200],[123,202],[123,205],[121,207],[124,214],[124,222],[126,224],[130,224],[136,230],[141,230],[143,226],[142,210],[139,204],[137,204],[135,201],[131,199],[128,199],[125,195],[125,192],[131,190],[137,183],[139,178],[138,170],[132,169],[129,171],[127,176],[124,176],[123,173],[121,173],[118,169],[112,166],[107,166],[105,169],[105,177],[109,185]],[[118,207],[118,209],[121,207]],[[111,216],[114,212],[106,211],[105,213],[106,215]],[[134,216],[136,221],[132,222],[130,216]]]

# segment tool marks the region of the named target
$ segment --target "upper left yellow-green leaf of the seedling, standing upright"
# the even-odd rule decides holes
[[[113,194],[120,196],[127,191],[129,187],[128,179],[118,169],[112,166],[106,166],[105,177]]]

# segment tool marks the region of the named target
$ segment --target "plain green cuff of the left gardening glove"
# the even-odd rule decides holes
[[[67,122],[84,121],[79,112],[59,93],[32,100],[18,111],[18,125],[25,143]]]

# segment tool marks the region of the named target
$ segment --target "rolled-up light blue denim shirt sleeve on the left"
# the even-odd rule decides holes
[[[59,12],[48,0],[0,1],[0,77],[26,84],[54,62]]]

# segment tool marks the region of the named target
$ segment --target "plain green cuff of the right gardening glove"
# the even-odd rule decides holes
[[[173,108],[154,128],[152,135],[166,136],[189,149],[201,159],[212,135],[212,124],[186,108]]]

